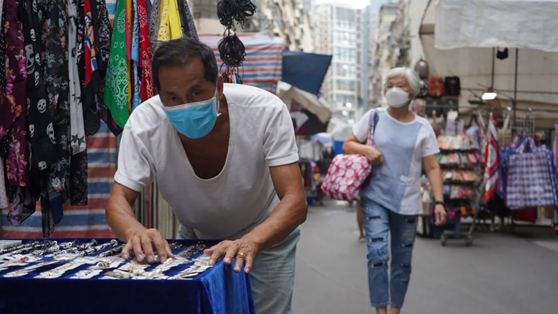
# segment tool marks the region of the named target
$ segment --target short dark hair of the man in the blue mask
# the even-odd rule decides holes
[[[158,90],[161,87],[159,81],[159,68],[163,66],[185,66],[192,59],[200,58],[204,65],[204,78],[217,84],[219,67],[215,54],[208,45],[190,37],[182,37],[175,40],[157,43],[157,49],[153,54],[151,71],[153,85]]]

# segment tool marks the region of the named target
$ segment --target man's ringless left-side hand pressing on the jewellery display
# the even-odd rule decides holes
[[[122,249],[122,258],[130,258],[130,253],[136,254],[138,262],[147,261],[147,263],[155,262],[155,254],[157,252],[161,263],[165,263],[167,258],[174,257],[167,240],[163,238],[159,230],[138,228],[130,231],[126,236],[127,243]]]

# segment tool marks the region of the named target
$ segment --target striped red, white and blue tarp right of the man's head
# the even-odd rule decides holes
[[[238,33],[244,47],[246,60],[239,69],[243,84],[256,86],[275,94],[277,81],[281,80],[283,63],[283,39],[273,37],[270,33]],[[215,52],[217,63],[222,66],[218,42],[223,35],[200,34],[200,40]],[[223,69],[224,71],[224,69]]]

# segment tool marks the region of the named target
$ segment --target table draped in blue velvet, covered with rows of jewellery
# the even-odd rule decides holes
[[[61,247],[73,239],[48,240]],[[248,274],[235,273],[222,261],[214,267],[206,265],[203,248],[218,241],[169,240],[176,247],[172,250],[176,258],[166,264],[157,261],[149,265],[124,260],[118,253],[101,257],[123,243],[95,240],[92,247],[103,249],[68,260],[60,258],[63,254],[46,256],[54,252],[37,260],[32,254],[0,254],[0,313],[255,312]],[[23,240],[23,245],[32,241],[44,240]],[[91,243],[92,239],[75,241],[71,247]],[[13,262],[6,265],[7,260]],[[86,263],[69,267],[73,262]],[[37,268],[39,265],[42,267]]]

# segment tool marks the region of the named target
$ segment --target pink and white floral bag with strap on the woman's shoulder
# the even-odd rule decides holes
[[[378,123],[378,113],[372,111],[368,123],[366,144],[374,145],[374,130]],[[333,158],[321,191],[333,200],[354,201],[362,184],[372,172],[368,159],[359,154],[339,154]]]

